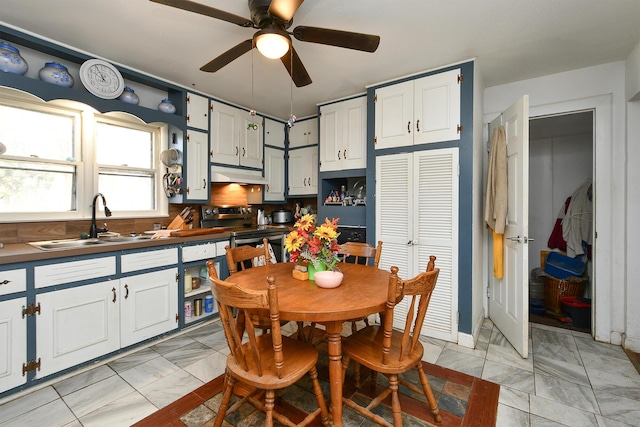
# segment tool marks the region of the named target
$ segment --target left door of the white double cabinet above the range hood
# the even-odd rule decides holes
[[[240,158],[237,108],[211,101],[211,162],[237,166]]]

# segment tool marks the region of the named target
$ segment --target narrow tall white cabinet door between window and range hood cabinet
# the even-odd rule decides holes
[[[209,138],[204,132],[187,130],[186,199],[209,200]]]

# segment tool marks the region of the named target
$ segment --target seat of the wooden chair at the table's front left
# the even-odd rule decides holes
[[[263,390],[277,390],[287,387],[302,378],[318,362],[318,351],[310,344],[282,337],[282,352],[284,354],[284,372],[278,378],[275,372],[273,342],[271,334],[256,337],[257,351],[261,355],[262,376],[257,375],[257,368],[249,366],[249,371],[242,369],[233,356],[227,358],[227,372],[248,385]],[[246,348],[248,344],[244,344]],[[253,363],[252,360],[247,360]]]

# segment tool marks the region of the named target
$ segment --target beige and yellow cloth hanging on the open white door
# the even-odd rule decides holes
[[[507,223],[507,139],[504,126],[493,129],[489,148],[484,220],[493,234],[493,275],[502,279]]]

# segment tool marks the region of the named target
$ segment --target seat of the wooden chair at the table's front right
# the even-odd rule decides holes
[[[382,339],[384,338],[384,328],[373,325],[359,330],[351,335],[342,344],[342,350],[349,357],[367,368],[383,374],[399,374],[415,366],[422,359],[424,347],[420,342],[415,349],[400,361],[400,344],[402,343],[402,332],[393,330],[391,332],[391,348],[389,360],[386,365],[382,364],[380,357],[382,354]],[[374,357],[372,357],[374,355]]]

